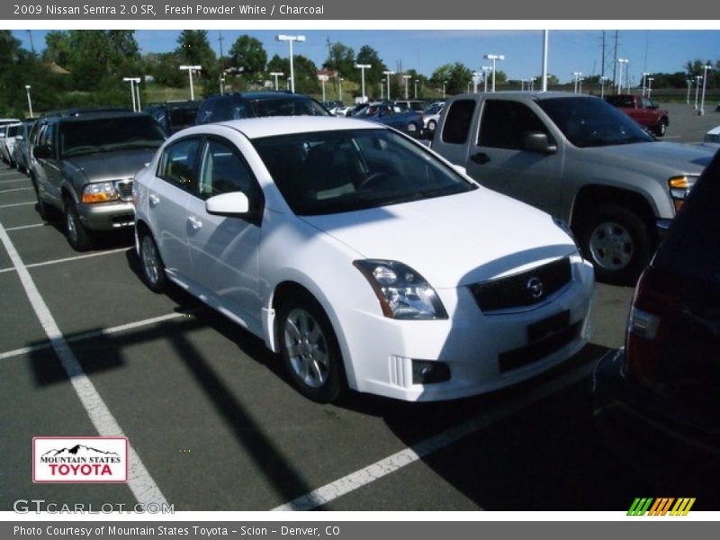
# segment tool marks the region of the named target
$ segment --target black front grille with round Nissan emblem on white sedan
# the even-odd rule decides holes
[[[527,308],[544,302],[572,280],[570,257],[527,272],[501,277],[468,288],[482,311]]]

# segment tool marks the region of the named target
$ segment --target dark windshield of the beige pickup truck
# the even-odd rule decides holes
[[[579,148],[655,140],[625,112],[596,97],[540,99],[537,104]]]

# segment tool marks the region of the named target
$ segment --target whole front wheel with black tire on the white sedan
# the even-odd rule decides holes
[[[346,388],[338,339],[309,294],[293,295],[278,314],[280,353],[291,383],[312,401],[336,401]]]

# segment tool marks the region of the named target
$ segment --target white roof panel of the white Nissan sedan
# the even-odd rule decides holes
[[[294,133],[313,131],[387,129],[379,123],[337,116],[266,116],[202,124],[183,130],[182,133],[184,135],[206,133],[208,129],[214,126],[238,130],[248,139],[261,139],[275,135],[292,135]]]

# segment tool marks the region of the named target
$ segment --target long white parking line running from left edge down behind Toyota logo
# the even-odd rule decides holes
[[[75,354],[67,345],[67,341],[58,329],[58,325],[53,319],[48,305],[40,296],[40,291],[38,291],[38,288],[32,281],[30,272],[28,272],[28,269],[24,266],[23,259],[18,255],[13,242],[7,235],[7,232],[5,232],[2,224],[0,224],[0,241],[3,242],[10,260],[13,261],[13,266],[20,276],[25,293],[32,304],[32,309],[40,320],[40,324],[45,330],[45,333],[48,335],[50,344],[55,349],[60,364],[65,369],[65,373],[73,385],[77,397],[83,404],[87,416],[90,417],[90,420],[93,422],[97,433],[106,437],[125,437],[117,420],[112,416],[112,412],[107,408],[103,398],[97,390],[95,390],[94,384],[83,372],[83,368],[77,361]],[[160,488],[157,487],[157,483],[152,479],[145,465],[140,460],[138,453],[135,451],[135,448],[131,445],[129,458],[130,477],[128,487],[130,487],[130,491],[132,491],[135,499],[138,500],[139,504],[143,505],[148,505],[149,503],[166,505],[167,500],[165,496],[162,491],[160,491]]]

